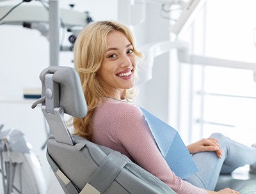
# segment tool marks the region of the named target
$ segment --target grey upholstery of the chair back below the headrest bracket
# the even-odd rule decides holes
[[[83,189],[85,183],[90,183],[101,191],[100,193],[175,193],[157,177],[132,163],[126,156],[108,147],[97,146],[84,138],[77,136],[73,138],[77,147],[57,143],[53,137],[49,138],[47,147],[52,160],[58,163],[63,173],[76,183],[79,190]],[[100,174],[97,174],[97,169],[104,165],[104,161],[111,154],[125,161],[125,165],[109,183],[115,168],[111,165],[109,168],[103,167],[104,170]],[[112,162],[115,166],[116,160]],[[109,186],[104,187],[106,183]]]

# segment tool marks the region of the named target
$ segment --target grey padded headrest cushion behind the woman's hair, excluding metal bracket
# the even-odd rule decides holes
[[[47,74],[52,74],[52,80],[59,84],[59,106],[64,109],[64,112],[78,118],[86,116],[87,105],[77,71],[65,66],[45,68],[40,73],[42,96],[45,96],[45,75]],[[42,105],[45,105],[45,101]]]

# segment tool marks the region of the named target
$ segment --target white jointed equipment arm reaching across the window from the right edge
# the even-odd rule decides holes
[[[162,54],[170,52],[170,50],[173,49],[177,50],[178,61],[180,63],[252,70],[253,80],[256,82],[255,63],[190,54],[188,49],[188,43],[177,40],[174,42],[162,41],[157,43],[148,43],[147,45],[142,45],[140,47],[140,50],[143,51],[145,54],[145,66],[143,67],[143,71],[140,72],[140,83],[147,82],[152,78],[154,59],[157,56],[161,56]]]

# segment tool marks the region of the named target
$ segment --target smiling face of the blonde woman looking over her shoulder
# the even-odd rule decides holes
[[[136,56],[124,33],[111,31],[107,47],[97,72],[100,84],[109,97],[124,99],[126,89],[134,86]]]

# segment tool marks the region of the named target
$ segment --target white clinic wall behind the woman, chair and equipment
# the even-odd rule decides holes
[[[94,20],[118,20],[118,0],[68,1],[61,0],[60,7],[90,11]],[[159,16],[159,4],[147,5],[145,24],[134,27],[138,44],[168,40],[168,20]],[[158,29],[157,31],[155,29]],[[153,79],[140,86],[138,105],[141,105],[164,121],[168,120],[168,55],[157,57]],[[61,52],[60,65],[72,66],[72,53]],[[21,130],[34,147],[48,180],[49,165],[45,150],[47,139],[44,117],[40,107],[31,109],[33,100],[23,99],[24,87],[40,87],[40,71],[49,66],[49,42],[38,31],[21,26],[0,26],[0,123],[4,130]]]

